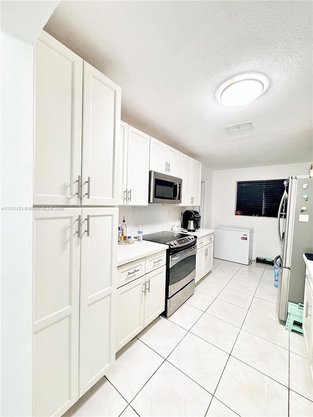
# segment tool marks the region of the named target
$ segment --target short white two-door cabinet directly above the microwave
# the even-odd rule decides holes
[[[154,137],[150,138],[150,171],[179,176],[180,152]]]

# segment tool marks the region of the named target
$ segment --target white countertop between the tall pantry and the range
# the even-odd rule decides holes
[[[150,241],[134,241],[128,245],[117,245],[117,266],[124,265],[124,263],[135,261],[136,259],[145,256],[153,255],[168,249],[168,245],[155,243]]]

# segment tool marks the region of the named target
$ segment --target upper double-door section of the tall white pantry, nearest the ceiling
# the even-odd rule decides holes
[[[120,117],[121,88],[42,32],[35,47],[34,204],[118,204]]]

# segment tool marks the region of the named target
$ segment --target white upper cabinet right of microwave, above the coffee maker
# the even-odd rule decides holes
[[[192,159],[188,155],[180,153],[179,177],[182,179],[180,205],[200,205],[201,171],[202,165],[200,162]]]

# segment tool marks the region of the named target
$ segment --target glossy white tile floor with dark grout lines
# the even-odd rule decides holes
[[[65,416],[313,416],[304,339],[278,321],[272,266],[213,266]]]

